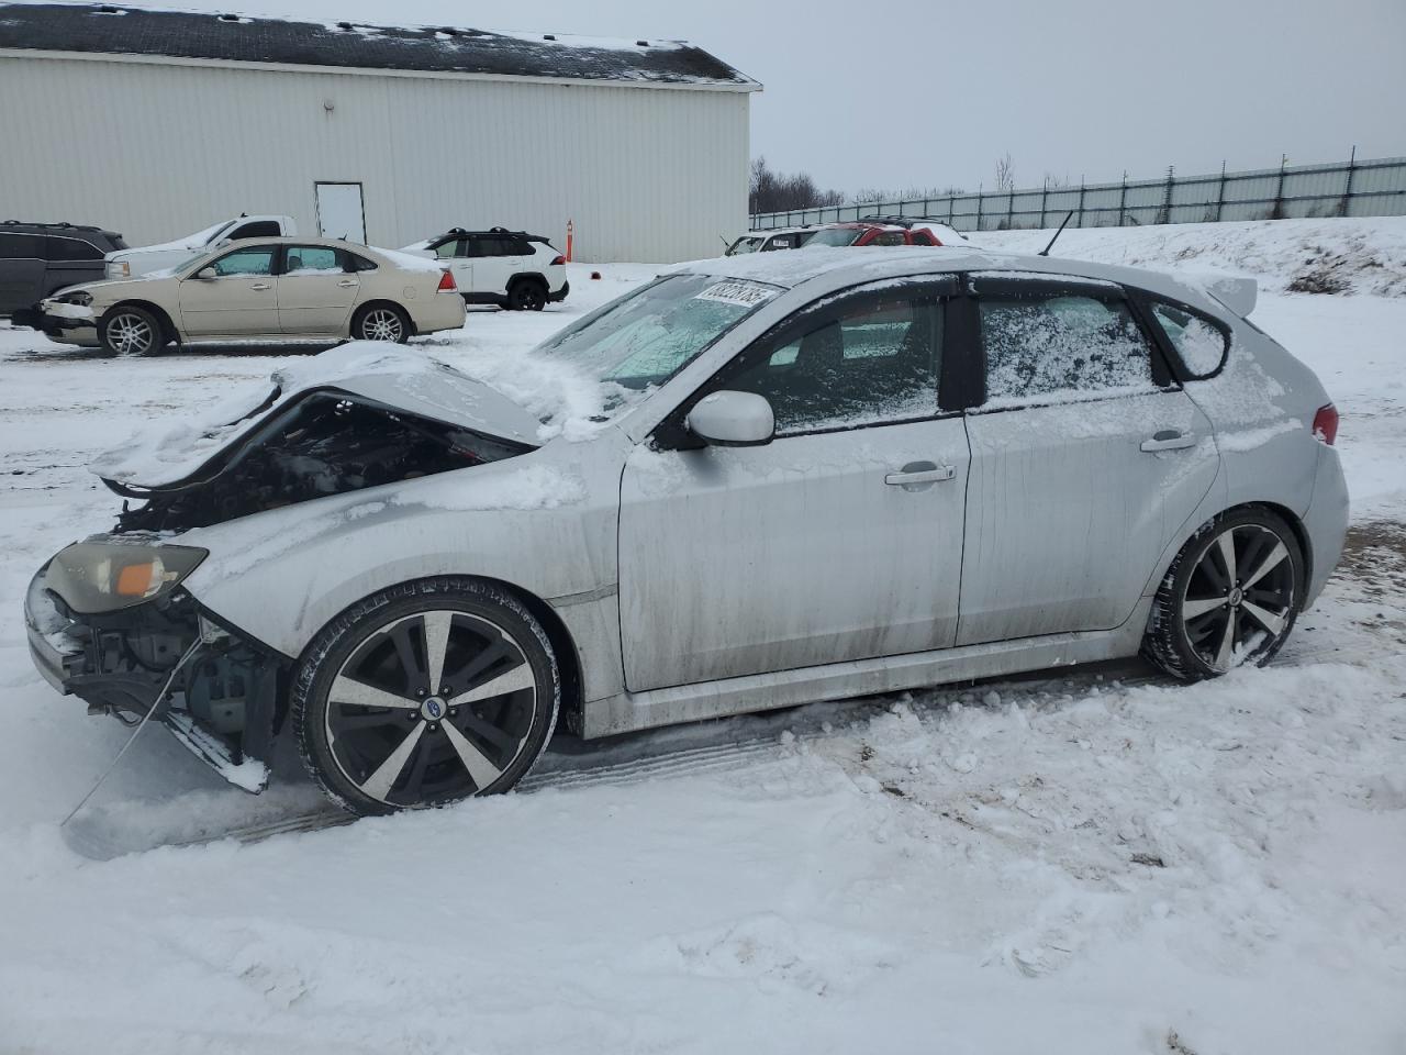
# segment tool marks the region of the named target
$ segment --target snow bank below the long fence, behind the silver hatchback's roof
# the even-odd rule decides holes
[[[1049,231],[983,231],[988,249],[1039,252]],[[1288,293],[1406,297],[1406,217],[1066,229],[1053,256],[1159,271],[1237,271]]]

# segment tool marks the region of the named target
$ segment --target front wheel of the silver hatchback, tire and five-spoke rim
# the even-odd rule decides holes
[[[291,717],[312,778],[371,816],[508,791],[560,705],[557,658],[531,613],[492,584],[433,578],[333,619],[294,671]]]

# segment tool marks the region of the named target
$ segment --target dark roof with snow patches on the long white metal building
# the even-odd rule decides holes
[[[686,41],[614,41],[451,25],[295,23],[124,4],[0,3],[0,49],[733,91],[761,87]]]

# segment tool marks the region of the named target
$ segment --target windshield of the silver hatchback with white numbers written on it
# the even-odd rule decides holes
[[[779,286],[666,274],[586,315],[537,352],[623,388],[664,384],[766,301]]]

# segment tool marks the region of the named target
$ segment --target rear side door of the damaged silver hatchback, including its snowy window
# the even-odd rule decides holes
[[[1107,630],[1211,490],[1209,419],[1121,288],[974,276],[957,644]],[[980,384],[980,378],[977,378]]]

